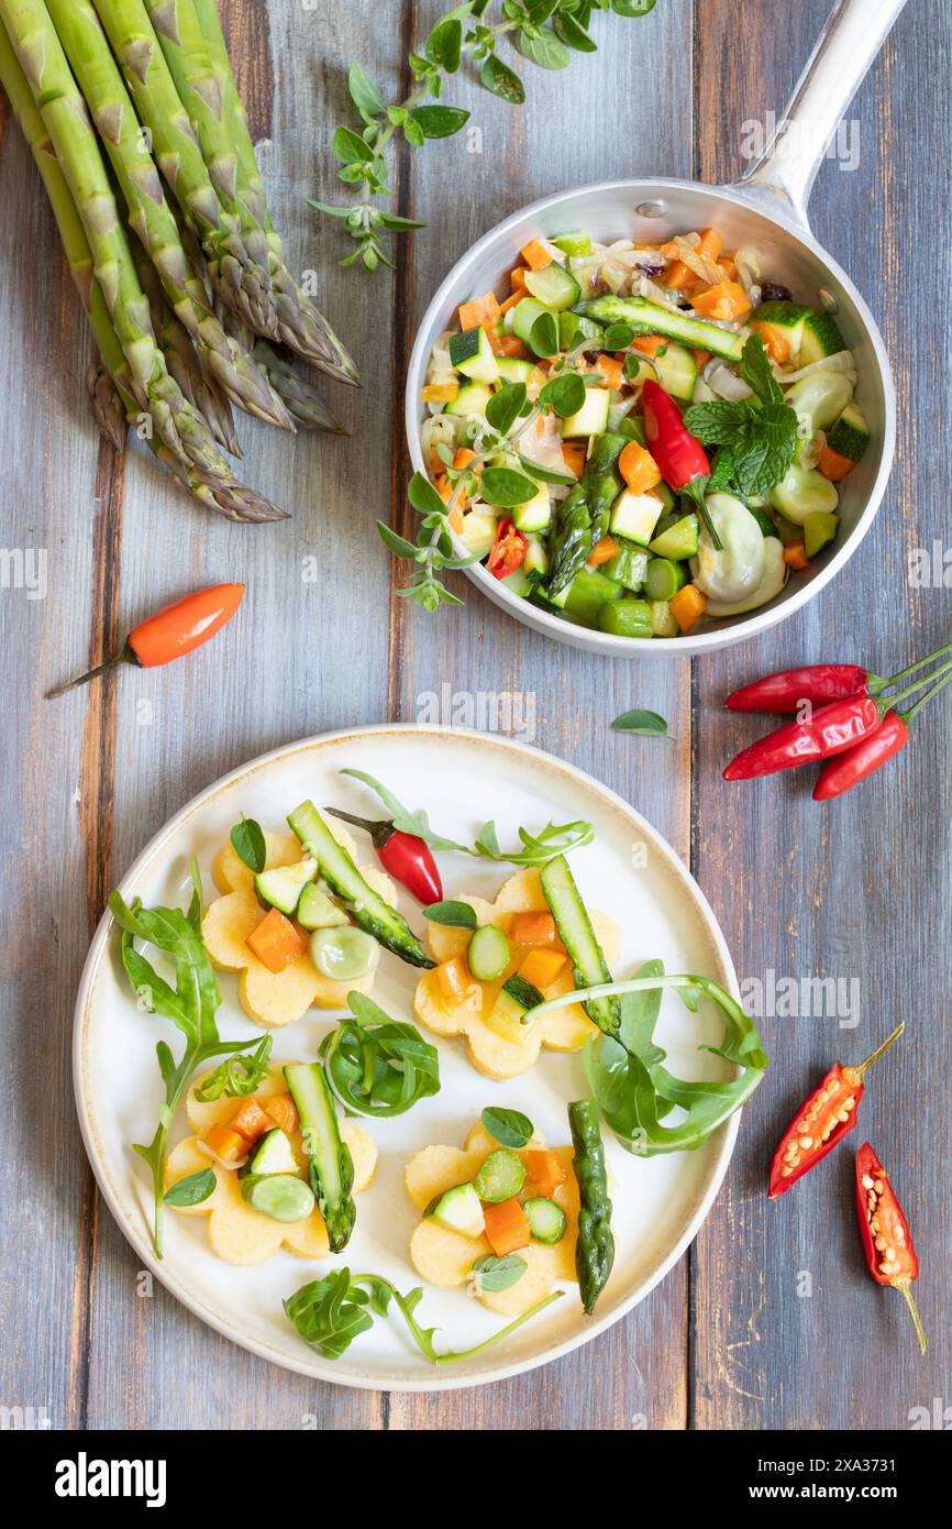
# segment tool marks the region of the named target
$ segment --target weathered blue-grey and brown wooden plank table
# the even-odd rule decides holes
[[[443,6],[231,0],[225,9],[292,261],[321,272],[325,312],[365,378],[359,394],[333,393],[351,440],[289,443],[243,428],[248,477],[293,509],[290,523],[215,521],[139,450],[118,459],[98,443],[83,388],[86,326],[32,162],[0,104],[2,540],[46,549],[49,586],[44,599],[0,590],[0,1402],[46,1407],[55,1428],[411,1430],[437,1419],[440,1428],[908,1428],[923,1427],[917,1408],[941,1427],[952,1402],[952,1219],[941,1171],[952,1066],[952,708],[934,708],[888,774],[822,809],[790,777],[750,789],[721,783],[724,758],[755,728],[724,716],[720,700],[792,661],[844,656],[899,668],[949,630],[949,8],[908,6],[850,112],[859,165],[844,173],[828,162],[811,206],[821,243],[869,300],[895,368],[899,453],[885,505],[848,570],[804,613],[758,645],[694,665],[610,664],[556,647],[463,581],[463,612],[426,616],[393,595],[396,570],[373,521],[390,514],[405,524],[410,514],[402,379],[416,321],[452,261],[507,213],[562,187],[627,174],[735,176],[743,124],[782,106],[827,0],[740,9],[659,0],[643,21],[602,17],[602,49],[576,55],[564,76],[532,70],[521,112],[460,83],[452,96],[472,110],[481,145],[463,135],[399,153],[400,211],[428,228],[402,245],[396,275],[374,278],[338,269],[336,229],[303,197],[333,200],[341,190],[329,138],[347,112],[347,61],[359,57],[405,90],[397,61]],[[920,546],[934,560],[921,589],[908,576]],[[316,583],[303,578],[310,558]],[[225,645],[43,702],[46,687],[112,651],[157,602],[220,579],[249,587]],[[850,998],[839,1018],[764,1018],[773,1066],[724,1190],[689,1255],[627,1321],[524,1379],[437,1399],[309,1384],[229,1346],[160,1287],[147,1298],[86,1165],[69,1046],[105,894],[170,813],[274,745],[413,720],[442,687],[448,696],[530,699],[538,745],[627,795],[689,861],[743,979],[770,989],[819,974]],[[633,705],[662,711],[677,742],[613,734],[610,720]],[[769,1205],[764,1194],[767,1157],[795,1101],[836,1057],[865,1055],[900,1015],[908,1034],[874,1078],[865,1124],[894,1165],[924,1255],[926,1359],[899,1295],[865,1277],[853,1153],[788,1200]]]

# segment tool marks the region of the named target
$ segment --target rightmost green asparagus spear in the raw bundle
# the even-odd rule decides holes
[[[292,347],[341,382],[358,382],[356,367],[318,307],[293,280],[281,251],[281,235],[270,220],[267,194],[258,170],[255,148],[248,130],[248,116],[238,95],[228,44],[222,32],[217,0],[193,0],[208,47],[208,58],[219,83],[228,127],[238,156],[238,194],[261,223],[270,252],[270,278],[281,321],[281,336]],[[289,404],[292,414],[293,407]]]

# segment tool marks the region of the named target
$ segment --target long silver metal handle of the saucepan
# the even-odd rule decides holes
[[[767,194],[807,225],[827,145],[906,0],[837,0],[759,159],[732,190]]]

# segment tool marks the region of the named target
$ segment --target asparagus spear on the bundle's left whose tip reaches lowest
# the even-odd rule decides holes
[[[12,21],[14,17],[20,21],[20,26]],[[12,32],[15,32],[20,40],[20,47],[23,49],[21,55],[14,49],[14,46],[11,46],[12,34],[8,34],[6,31],[11,24]],[[191,411],[191,407],[182,398],[174,381],[168,376],[168,373],[165,373],[162,355],[154,344],[151,329],[139,329],[138,332],[133,329],[133,332],[142,335],[142,349],[136,350],[133,347],[133,358],[136,362],[133,370],[128,353],[125,352],[124,344],[121,344],[118,326],[110,313],[104,287],[98,280],[101,269],[104,280],[110,286],[113,301],[116,301],[118,295],[124,295],[128,291],[128,272],[122,271],[122,277],[119,277],[118,269],[110,265],[108,260],[105,260],[101,268],[95,261],[93,248],[90,246],[90,231],[79,216],[78,203],[73,199],[72,187],[67,180],[63,164],[58,159],[57,141],[53,131],[50,130],[50,116],[53,118],[53,122],[58,124],[58,112],[53,112],[52,107],[61,109],[66,102],[67,116],[72,115],[76,130],[86,127],[92,147],[95,148],[95,153],[90,156],[89,167],[83,165],[83,154],[73,148],[73,157],[78,159],[81,167],[79,188],[87,200],[90,197],[96,199],[95,211],[99,213],[104,220],[108,220],[110,214],[115,213],[115,202],[112,200],[108,179],[105,177],[105,168],[99,159],[98,147],[95,145],[92,131],[87,128],[86,112],[78,104],[75,92],[70,92],[67,98],[63,98],[52,90],[49,101],[44,99],[44,115],[41,115],[34,96],[34,86],[28,80],[23,67],[23,61],[26,60],[31,66],[38,67],[41,76],[46,80],[46,64],[50,58],[55,61],[57,54],[60,60],[58,76],[63,78],[63,70],[66,70],[66,76],[69,76],[69,67],[66,66],[66,60],[58,46],[44,6],[38,3],[38,0],[3,0],[0,8],[0,83],[3,83],[3,87],[11,99],[43,177],[53,216],[60,228],[73,281],[89,313],[93,338],[99,347],[102,361],[125,405],[127,417],[139,428],[139,433],[144,436],[150,450],[159,457],[159,460],[171,468],[171,471],[183,483],[186,483],[194,497],[209,509],[214,509],[217,514],[226,515],[231,520],[258,521],[283,518],[283,512],[277,511],[266,498],[255,494],[254,489],[237,483],[228,469],[228,465],[217,453],[214,454],[214,471],[202,471],[185,453],[182,445],[176,442],[174,431],[168,431],[168,420],[164,417],[164,410],[167,408],[168,399],[171,399],[177,407],[179,417],[186,414],[191,416],[188,419],[189,430],[193,424],[196,430],[200,425],[200,431],[208,439],[208,445],[214,446],[205,424],[194,416],[194,411]],[[72,84],[72,76],[69,76],[69,80]],[[99,243],[99,240],[96,240],[96,243]],[[131,269],[131,255],[124,237],[116,246],[107,246],[108,252],[112,252],[113,248],[119,257],[119,265],[125,261]],[[134,281],[134,269],[131,269],[131,275]],[[147,301],[142,291],[138,287],[138,283],[134,291],[138,294],[134,298],[134,313],[142,313],[147,307]],[[130,324],[131,320],[127,317],[124,320],[127,332],[130,332]],[[159,420],[156,420],[150,410],[142,405],[142,376],[147,364],[151,364],[153,373],[157,370],[160,372],[159,391],[156,393],[156,411],[159,413]],[[170,443],[170,440],[173,443]]]

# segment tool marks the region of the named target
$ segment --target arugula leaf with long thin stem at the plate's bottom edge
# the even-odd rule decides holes
[[[351,1275],[350,1269],[338,1269],[322,1280],[312,1280],[310,1284],[303,1284],[283,1304],[304,1342],[316,1349],[325,1359],[339,1359],[355,1338],[359,1338],[361,1333],[373,1327],[374,1313],[387,1316],[391,1306],[396,1306],[423,1358],[429,1364],[440,1365],[458,1364],[463,1359],[475,1358],[475,1355],[483,1353],[486,1349],[492,1349],[494,1344],[507,1338],[509,1333],[530,1321],[547,1306],[552,1306],[553,1301],[558,1301],[561,1295],[561,1290],[546,1295],[535,1306],[530,1306],[527,1312],[523,1312],[521,1316],[516,1316],[506,1327],[484,1338],[483,1342],[474,1344],[472,1349],[449,1349],[445,1353],[437,1353],[434,1344],[437,1329],[423,1327],[417,1321],[416,1312],[423,1300],[422,1286],[402,1295],[390,1280],[385,1280],[379,1274]]]

